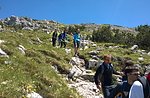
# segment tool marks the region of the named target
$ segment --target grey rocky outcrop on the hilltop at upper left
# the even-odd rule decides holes
[[[17,16],[10,16],[6,19],[0,20],[5,25],[8,26],[17,26],[23,30],[37,30],[43,29],[44,31],[53,31],[55,28],[59,27],[61,24],[55,21],[48,21],[48,20],[35,20],[28,17],[17,17]],[[2,28],[0,27],[0,30]]]

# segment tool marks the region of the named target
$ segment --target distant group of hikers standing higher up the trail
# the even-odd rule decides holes
[[[55,29],[52,33],[52,45],[55,47],[56,43],[58,42],[58,46],[66,48],[68,37],[67,34],[69,32],[64,30],[60,34],[58,34],[58,30]],[[71,35],[73,36],[73,46],[74,46],[74,56],[78,56],[79,46],[80,46],[80,29],[77,29],[75,32],[72,32]]]

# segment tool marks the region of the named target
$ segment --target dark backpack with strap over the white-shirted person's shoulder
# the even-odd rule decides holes
[[[146,77],[140,77],[138,81],[143,85],[144,98],[150,98],[150,84]]]

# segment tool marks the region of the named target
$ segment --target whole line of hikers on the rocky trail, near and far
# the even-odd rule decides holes
[[[52,34],[52,45],[66,48],[68,31],[58,34],[57,29]],[[74,56],[78,56],[80,46],[80,29],[71,33],[73,38]],[[97,88],[103,92],[104,98],[150,98],[150,66],[145,75],[141,75],[139,65],[132,60],[126,60],[122,71],[118,72],[111,63],[112,56],[104,55],[103,63],[99,65],[94,75]],[[113,83],[113,74],[121,76],[121,82]]]

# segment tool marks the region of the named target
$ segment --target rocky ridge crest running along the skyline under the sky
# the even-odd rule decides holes
[[[111,29],[119,29],[122,32],[129,32],[129,33],[135,33],[138,32],[135,30],[135,28],[128,28],[128,27],[122,27],[118,25],[110,25],[110,24],[94,24],[94,23],[85,23],[85,24],[72,24],[72,25],[65,25],[53,20],[37,20],[37,19],[31,19],[28,17],[17,17],[17,16],[10,16],[5,19],[0,20],[0,31],[6,30],[5,26],[14,26],[17,29],[22,30],[39,30],[42,29],[45,32],[51,32],[54,29],[62,29],[64,27],[74,26],[78,25],[81,27],[84,27],[84,31],[86,32],[93,32],[94,30],[98,30],[100,26],[102,25],[109,25]]]

